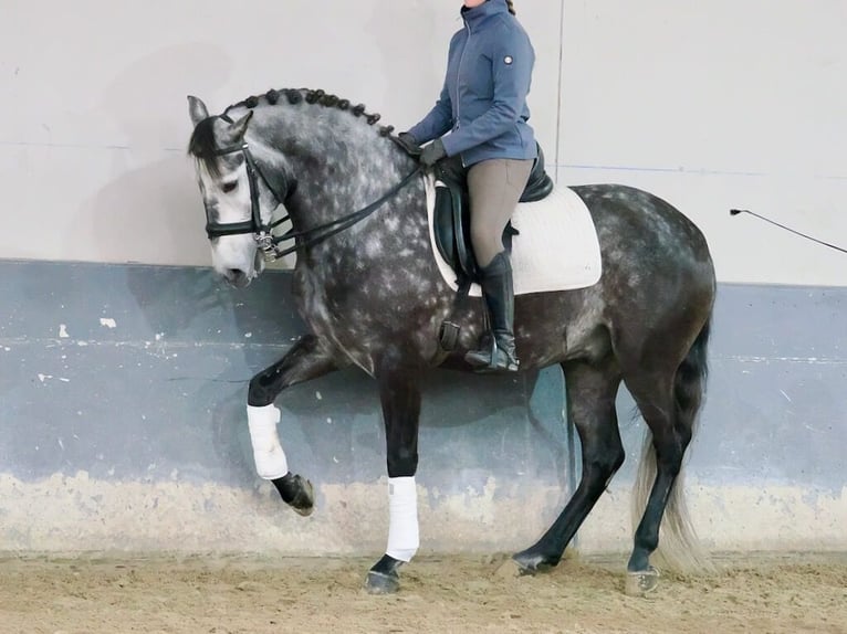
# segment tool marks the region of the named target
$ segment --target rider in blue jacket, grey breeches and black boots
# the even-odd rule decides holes
[[[450,41],[438,102],[398,136],[410,151],[435,139],[420,155],[427,167],[459,155],[468,169],[471,243],[491,332],[464,359],[479,371],[515,371],[514,288],[503,231],[537,156],[526,123],[535,52],[512,0],[464,0],[461,15],[464,29]]]

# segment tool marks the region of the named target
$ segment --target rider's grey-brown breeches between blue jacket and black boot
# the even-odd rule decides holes
[[[483,268],[503,251],[503,230],[526,187],[532,163],[532,159],[491,159],[468,170],[471,243]]]

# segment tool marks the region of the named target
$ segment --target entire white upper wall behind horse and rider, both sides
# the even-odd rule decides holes
[[[560,182],[666,198],[704,231],[721,281],[847,285],[843,254],[729,216],[847,243],[847,2],[515,3]],[[438,95],[460,4],[7,0],[0,257],[207,265],[186,95],[219,112],[324,88],[404,129]]]

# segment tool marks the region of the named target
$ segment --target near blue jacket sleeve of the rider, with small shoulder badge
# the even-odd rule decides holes
[[[448,156],[496,138],[517,123],[530,92],[534,57],[532,44],[524,33],[494,39],[491,57],[494,95],[491,107],[471,124],[441,139]]]

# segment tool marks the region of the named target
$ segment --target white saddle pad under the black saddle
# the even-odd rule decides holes
[[[456,290],[456,273],[441,257],[432,229],[436,183],[429,176],[426,181],[432,254],[445,281]],[[597,230],[585,202],[571,188],[555,187],[544,200],[520,203],[512,226],[520,232],[512,237],[515,295],[585,288],[599,282]],[[479,284],[471,285],[470,295],[482,295]]]

